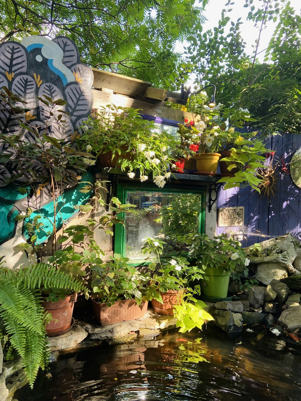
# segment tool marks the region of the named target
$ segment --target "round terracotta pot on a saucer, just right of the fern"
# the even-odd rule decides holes
[[[52,315],[52,320],[46,325],[47,333],[57,333],[59,336],[61,331],[71,326],[76,298],[77,294],[68,295],[65,299],[57,302],[46,301],[47,298],[43,298],[43,308]]]

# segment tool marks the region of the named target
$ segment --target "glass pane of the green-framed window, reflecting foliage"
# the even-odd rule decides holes
[[[124,220],[124,256],[130,259],[145,258],[141,253],[145,238],[199,232],[201,194],[129,190],[126,203],[138,211]]]

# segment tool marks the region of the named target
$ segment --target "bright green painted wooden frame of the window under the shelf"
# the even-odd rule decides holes
[[[199,233],[205,233],[205,198],[206,198],[206,187],[195,185],[192,189],[187,189],[187,186],[181,184],[169,184],[164,188],[158,188],[153,184],[141,184],[139,182],[119,182],[116,185],[116,196],[122,202],[126,203],[128,192],[130,191],[146,191],[146,192],[161,192],[161,193],[180,193],[180,194],[196,194],[200,196],[199,202],[199,214],[198,214],[198,227]],[[124,216],[120,216],[124,219]],[[115,226],[114,235],[114,252],[120,253],[125,256],[126,246],[126,231],[122,224]],[[133,265],[140,264],[141,259],[132,259]]]

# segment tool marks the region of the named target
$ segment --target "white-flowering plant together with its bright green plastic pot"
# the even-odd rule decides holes
[[[206,234],[195,234],[189,253],[197,259],[195,264],[205,271],[201,288],[208,300],[226,298],[230,274],[241,272],[250,263],[240,242],[226,234],[214,239]]]

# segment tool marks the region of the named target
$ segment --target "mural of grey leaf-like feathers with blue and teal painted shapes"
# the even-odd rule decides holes
[[[28,143],[37,142],[37,138],[49,138],[49,146],[51,138],[54,138],[59,146],[74,148],[83,121],[92,111],[92,83],[92,70],[80,63],[77,47],[69,38],[58,36],[51,40],[45,36],[27,36],[21,43],[2,43],[0,91],[5,92],[7,88],[17,95],[20,101],[16,106],[25,107],[26,112],[12,113],[7,103],[0,101],[0,132],[11,138],[20,136],[21,141]],[[62,104],[59,99],[66,103]],[[62,114],[63,125],[60,124]],[[28,129],[29,125],[31,129]],[[73,168],[66,171],[60,180],[60,188],[55,193],[55,206],[50,183],[38,182],[33,191],[31,186],[26,185],[31,172],[26,174],[23,169],[21,174],[21,170],[14,148],[2,139],[0,260],[5,260],[9,267],[18,267],[20,263],[31,260],[31,256],[18,247],[18,244],[28,241],[26,223],[41,215],[39,219],[44,226],[38,233],[38,241],[44,243],[51,232],[55,207],[59,210],[59,217],[55,220],[59,229],[75,214],[73,206],[87,202],[90,196],[89,193],[79,192],[84,184],[78,183],[77,178],[82,174]],[[43,176],[43,164],[37,162],[32,171]],[[82,181],[92,181],[92,176],[86,174]],[[18,215],[28,213],[28,207],[31,216],[18,220]]]

